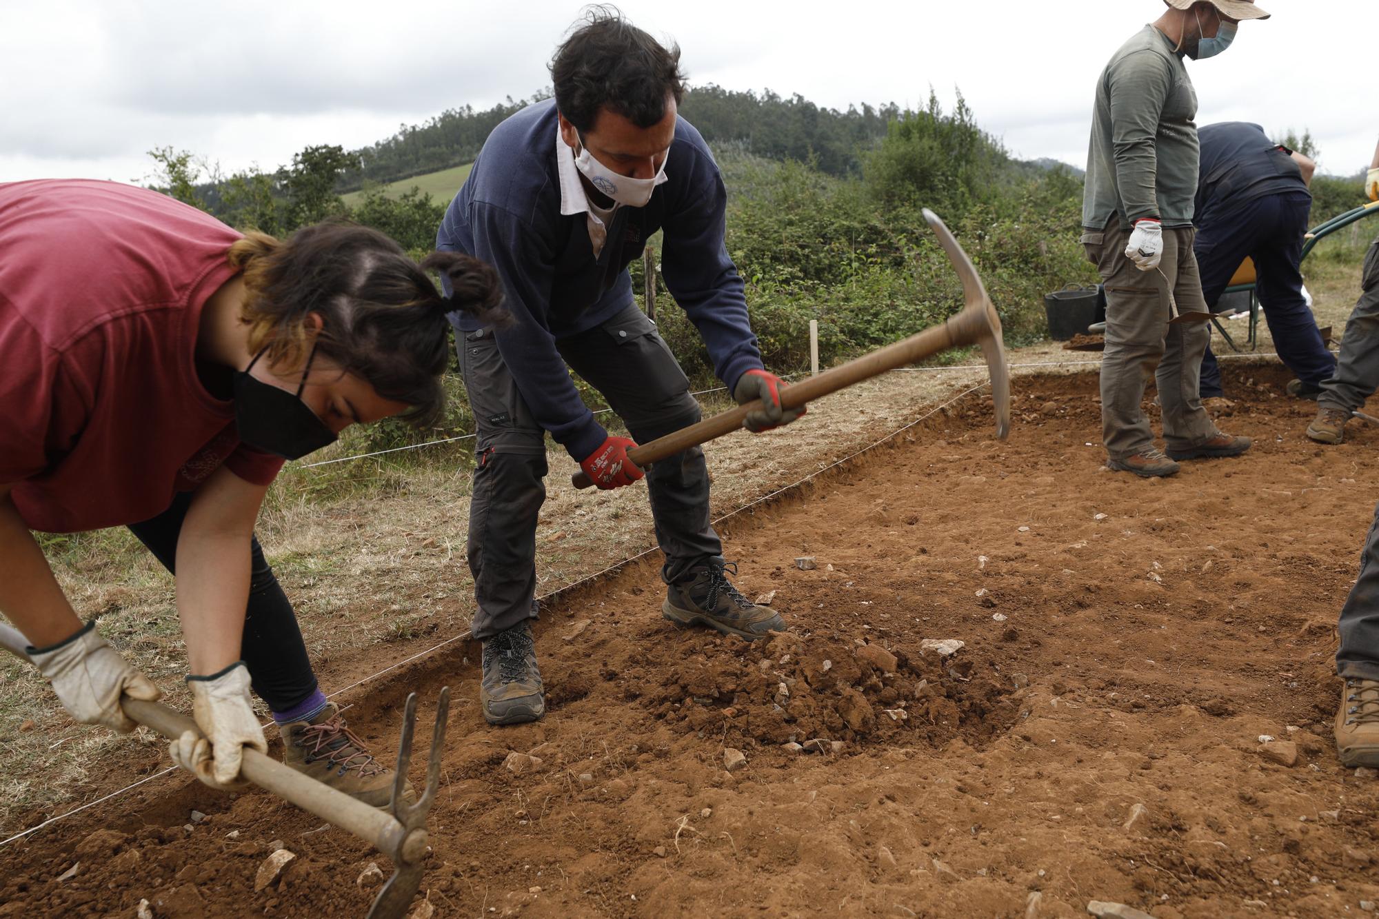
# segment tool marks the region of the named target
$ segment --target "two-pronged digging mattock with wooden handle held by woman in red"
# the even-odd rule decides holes
[[[29,642],[18,631],[8,625],[0,625],[0,647],[28,661],[29,655],[25,651],[28,644]],[[120,706],[132,720],[152,727],[164,737],[178,738],[185,731],[201,734],[196,722],[161,702],[143,702],[125,695],[120,700]],[[430,810],[432,802],[436,799],[436,788],[440,784],[440,756],[445,742],[448,713],[450,687],[447,686],[440,691],[440,704],[436,706],[430,760],[426,763],[426,788],[412,804],[403,799],[403,788],[407,781],[407,767],[412,759],[416,693],[407,697],[403,737],[397,744],[393,798],[386,809],[370,807],[364,802],[303,775],[256,749],[244,749],[241,777],[341,829],[348,829],[392,858],[393,876],[387,879],[374,900],[368,919],[401,919],[421,887],[422,862],[427,853],[426,811]]]

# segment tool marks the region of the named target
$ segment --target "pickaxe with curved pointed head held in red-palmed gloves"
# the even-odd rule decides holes
[[[982,279],[968,259],[967,253],[943,225],[939,217],[925,208],[924,219],[939,237],[943,251],[947,253],[958,277],[963,279],[963,297],[965,306],[963,310],[942,326],[925,328],[917,335],[910,335],[894,345],[887,345],[870,355],[863,355],[856,360],[827,370],[818,377],[809,377],[781,389],[781,406],[785,408],[798,408],[821,396],[827,396],[840,389],[847,389],[863,379],[878,377],[896,367],[917,363],[950,348],[965,345],[980,345],[986,357],[986,367],[992,374],[992,399],[996,404],[996,436],[1003,440],[1011,429],[1011,371],[1005,363],[1005,345],[1001,341],[1001,320],[992,306],[992,299],[986,295]],[[673,457],[681,450],[698,446],[732,433],[742,426],[749,411],[761,408],[761,400],[753,400],[738,406],[731,411],[705,418],[688,428],[674,431],[665,437],[647,442],[627,451],[627,458],[638,466],[645,468],[658,460]],[[571,482],[576,488],[587,488],[593,484],[583,471],[576,472]]]

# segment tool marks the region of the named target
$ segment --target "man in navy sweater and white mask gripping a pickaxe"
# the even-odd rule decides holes
[[[637,309],[627,265],[663,232],[662,276],[694,322],[714,371],[739,403],[765,408],[746,426],[793,421],[781,379],[763,368],[742,279],[724,247],[727,193],[707,145],[676,110],[678,47],[667,50],[594,8],[556,52],[553,101],[499,124],[436,236],[498,269],[516,323],[455,319],[459,366],[477,425],[469,566],[473,635],[484,643],[480,702],[494,724],[545,713],[531,636],[536,618],[536,517],[545,501],[545,433],[600,488],[643,477],[636,442],[699,421],[690,384]],[[574,370],[604,395],[636,440],[610,435],[579,397]],[[727,578],[709,524],[709,476],[698,447],[647,473],[666,560],[662,614],[754,639],[785,629]]]

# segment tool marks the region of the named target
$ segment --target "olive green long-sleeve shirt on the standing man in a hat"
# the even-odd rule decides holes
[[[1197,195],[1197,92],[1168,37],[1145,26],[1111,57],[1096,84],[1087,150],[1083,226],[1123,229],[1154,217],[1191,226]]]

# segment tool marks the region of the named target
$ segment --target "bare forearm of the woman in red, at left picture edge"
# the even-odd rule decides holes
[[[43,549],[14,506],[10,486],[0,486],[0,613],[30,644],[48,647],[81,628],[81,618],[62,593]]]

